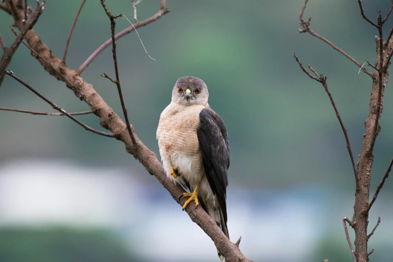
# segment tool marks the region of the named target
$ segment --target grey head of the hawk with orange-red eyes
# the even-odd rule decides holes
[[[179,78],[172,90],[172,102],[183,105],[206,105],[208,97],[205,82],[194,76]]]

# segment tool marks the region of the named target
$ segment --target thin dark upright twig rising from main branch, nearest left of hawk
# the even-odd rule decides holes
[[[114,73],[116,75],[115,84],[117,86],[117,91],[119,93],[121,108],[123,109],[123,113],[124,113],[125,123],[127,125],[128,134],[129,134],[129,137],[131,138],[131,141],[133,142],[133,145],[135,145],[136,141],[135,141],[134,133],[131,130],[131,125],[129,124],[127,108],[125,108],[123,94],[121,92],[121,86],[120,86],[119,71],[118,71],[118,68],[117,68],[116,42],[115,42],[115,38],[114,38],[114,29],[116,27],[116,20],[115,19],[118,18],[118,17],[121,17],[121,14],[117,15],[117,16],[113,16],[111,13],[109,13],[108,9],[105,6],[104,0],[101,0],[101,5],[102,5],[103,9],[105,10],[105,14],[108,16],[108,18],[110,20],[110,31],[111,31],[111,38],[112,38],[113,64],[114,64]],[[113,82],[113,80],[111,80],[111,81]]]

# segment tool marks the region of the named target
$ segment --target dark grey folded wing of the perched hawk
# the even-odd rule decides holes
[[[229,168],[229,141],[222,118],[211,108],[199,113],[200,125],[197,130],[199,147],[202,151],[203,167],[210,188],[217,196],[225,226],[227,170]]]

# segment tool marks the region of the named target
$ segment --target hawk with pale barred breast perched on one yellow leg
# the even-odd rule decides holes
[[[205,82],[179,78],[171,103],[160,115],[157,140],[167,177],[190,190],[183,210],[194,201],[229,238],[226,212],[229,141],[224,121],[208,104]],[[223,254],[218,251],[221,260]]]

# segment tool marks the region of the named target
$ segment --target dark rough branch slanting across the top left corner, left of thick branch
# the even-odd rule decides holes
[[[12,3],[12,1],[10,1]],[[38,7],[34,10],[33,14],[29,17],[29,19],[23,24],[23,28],[21,28],[21,32],[18,34],[17,38],[14,40],[12,45],[4,51],[2,59],[0,60],[0,86],[2,85],[4,79],[4,72],[7,69],[8,65],[11,62],[12,56],[17,51],[17,48],[21,44],[23,38],[27,34],[27,32],[33,28],[36,24],[38,18],[40,17],[42,11],[44,10],[45,2],[42,2],[38,5]],[[15,5],[12,5],[15,8]],[[13,9],[13,10],[14,10]],[[14,12],[14,11],[13,11]],[[16,12],[16,10],[15,10]]]

